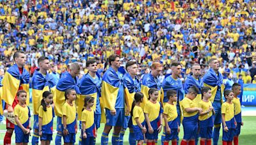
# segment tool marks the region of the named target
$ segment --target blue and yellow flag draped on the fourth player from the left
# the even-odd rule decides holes
[[[93,111],[95,111],[96,114],[101,114],[101,109],[100,109],[101,83],[102,83],[102,78],[98,73],[96,73],[95,78],[92,78],[92,76],[90,76],[90,74],[87,73],[87,74],[84,74],[83,78],[80,79],[79,89],[80,89],[81,95],[79,100],[77,100],[78,120],[81,120],[81,114],[84,106],[85,95],[90,95],[91,97],[95,98]]]

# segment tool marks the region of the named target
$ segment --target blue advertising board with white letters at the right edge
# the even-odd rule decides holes
[[[256,84],[244,84],[242,104],[244,106],[256,106]]]

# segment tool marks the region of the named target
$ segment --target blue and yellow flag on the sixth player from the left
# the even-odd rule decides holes
[[[134,94],[140,92],[140,80],[137,76],[132,79],[129,73],[124,74],[124,84],[125,84],[125,97],[128,99],[129,109],[131,111],[132,102],[134,100]]]

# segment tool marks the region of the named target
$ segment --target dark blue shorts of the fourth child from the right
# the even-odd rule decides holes
[[[183,123],[183,130],[184,130],[183,139],[191,140],[196,138],[196,132],[198,131],[198,127],[193,125],[184,125]]]

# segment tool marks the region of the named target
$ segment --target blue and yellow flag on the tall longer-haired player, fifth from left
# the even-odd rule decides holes
[[[124,82],[118,77],[116,71],[112,67],[109,67],[102,77],[102,107],[108,108],[109,110],[115,109],[116,98],[120,89],[119,86],[122,83]]]

